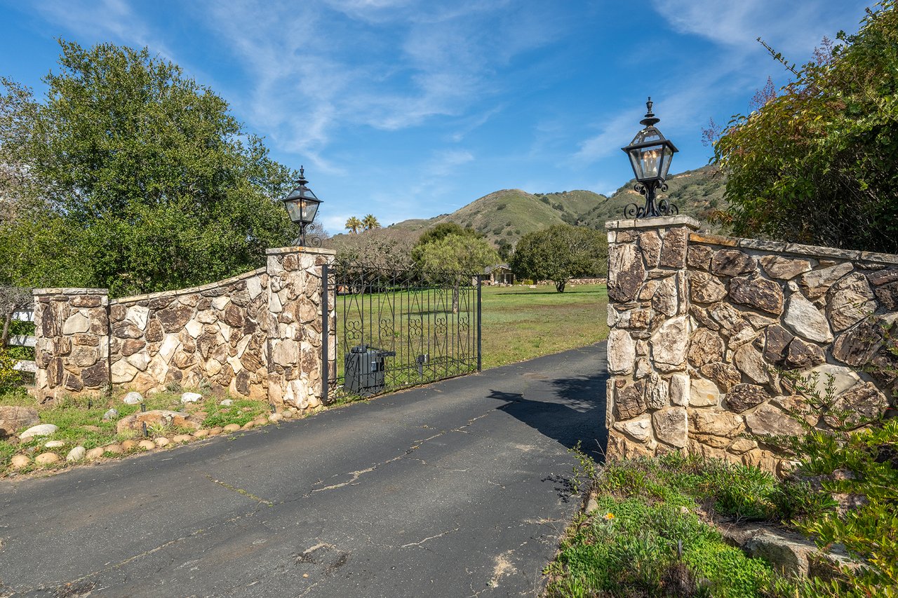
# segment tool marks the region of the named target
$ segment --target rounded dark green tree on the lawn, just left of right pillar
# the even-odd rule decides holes
[[[602,231],[556,224],[517,242],[510,266],[518,278],[551,280],[564,293],[568,280],[608,273],[608,238]]]

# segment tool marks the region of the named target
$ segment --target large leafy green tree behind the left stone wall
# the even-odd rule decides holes
[[[45,98],[0,79],[0,284],[113,295],[198,285],[258,267],[295,227],[295,173],[225,100],[136,50],[60,41]]]

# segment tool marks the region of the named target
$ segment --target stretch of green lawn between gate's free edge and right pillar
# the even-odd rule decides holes
[[[607,304],[604,285],[484,286],[483,369],[607,338]]]

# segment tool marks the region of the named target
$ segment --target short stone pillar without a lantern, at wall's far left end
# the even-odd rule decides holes
[[[108,311],[104,288],[34,289],[38,400],[108,389]]]

